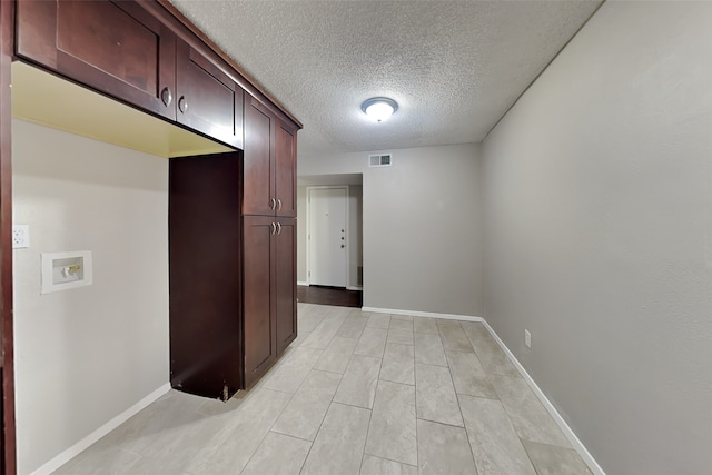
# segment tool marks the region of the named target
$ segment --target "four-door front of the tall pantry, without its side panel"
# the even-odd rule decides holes
[[[270,328],[270,350],[260,344],[261,352],[254,353],[254,359],[246,356],[246,375],[254,374],[255,378],[297,336],[296,132],[294,125],[269,108],[254,98],[246,99],[244,317],[246,331],[248,327],[254,331],[254,337],[247,334],[246,339],[266,342],[265,328]]]

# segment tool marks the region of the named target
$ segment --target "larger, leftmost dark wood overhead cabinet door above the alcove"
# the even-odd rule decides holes
[[[176,119],[176,37],[138,3],[20,0],[17,53],[99,92]]]

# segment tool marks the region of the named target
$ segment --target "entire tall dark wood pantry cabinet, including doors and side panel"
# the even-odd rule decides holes
[[[297,128],[246,106],[244,152],[170,161],[171,385],[210,397],[251,386],[297,336]]]

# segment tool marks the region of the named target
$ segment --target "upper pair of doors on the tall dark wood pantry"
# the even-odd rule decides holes
[[[245,101],[244,215],[297,216],[297,128]]]

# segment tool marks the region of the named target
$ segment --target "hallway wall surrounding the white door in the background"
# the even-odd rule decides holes
[[[309,186],[326,186],[313,184]],[[333,185],[342,186],[342,185]],[[362,241],[362,207],[363,187],[359,185],[343,185],[348,188],[348,263],[347,281],[350,288],[360,287],[358,279],[358,268],[363,266],[363,241]],[[307,271],[307,186],[297,187],[297,281],[308,281]]]

